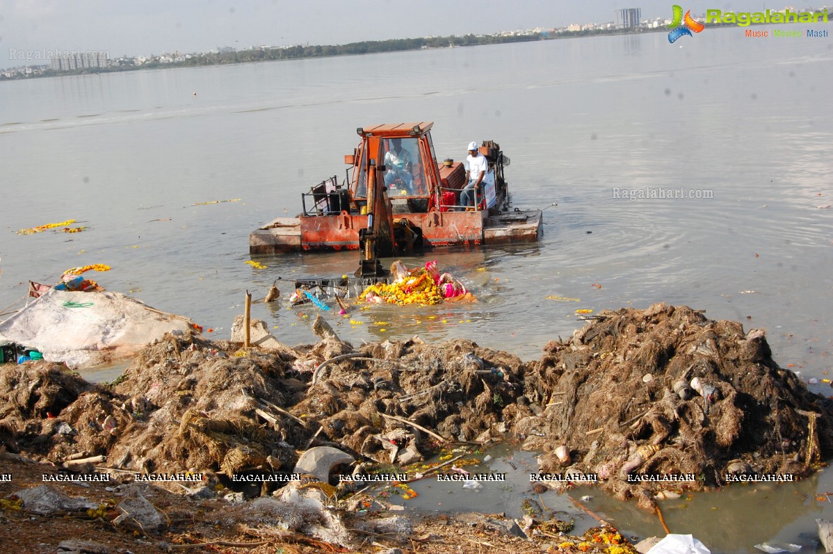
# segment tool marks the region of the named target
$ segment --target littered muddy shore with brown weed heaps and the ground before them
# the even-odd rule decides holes
[[[414,337],[354,347],[326,322],[313,330],[320,342],[287,347],[262,329],[257,346],[248,349],[169,334],[142,350],[110,386],[92,385],[49,362],[0,366],[0,391],[7,398],[0,405],[0,442],[4,467],[15,475],[13,486],[0,483],[0,514],[27,534],[37,532],[26,523],[26,502],[13,494],[42,485],[38,480],[47,471],[33,469],[25,458],[48,464],[51,473],[109,475],[109,485],[88,483],[83,490],[49,485],[73,497],[101,492],[98,512],[83,512],[79,529],[92,526],[116,542],[132,534],[131,540],[156,549],[147,552],[159,552],[159,542],[192,541],[185,531],[189,522],[201,540],[257,542],[255,537],[267,541],[268,552],[275,545],[319,552],[322,544],[375,552],[370,546],[380,537],[379,544],[408,552],[490,546],[571,552],[584,542],[586,549],[611,552],[620,546],[606,542],[615,535],[609,527],[596,532],[599,541],[587,542],[561,534],[567,530],[557,517],[535,512],[523,521],[466,516],[479,517],[472,522],[461,515],[415,522],[378,499],[357,497],[356,487],[340,485],[335,476],[391,467],[426,474],[433,470],[426,458],[443,447],[476,449],[509,439],[541,452],[538,474],[544,477],[531,476],[531,488],[563,490],[570,479],[595,479],[616,497],[656,510],[658,498],[732,479],[801,478],[833,447],[830,402],[772,361],[764,332],[709,321],[688,307],[601,312],[568,340],[549,343],[532,362],[466,340],[431,345]],[[305,475],[257,487],[232,481],[292,475],[304,452],[316,447],[337,449],[356,462],[333,462],[328,479]],[[463,462],[465,456],[442,472],[464,476]],[[175,482],[130,484],[137,473],[201,478],[185,483],[186,491]],[[113,523],[125,512],[113,497],[122,491],[168,513],[146,495],[164,497],[182,519],[168,515],[156,532],[123,524],[124,518]],[[204,497],[185,494],[197,491]],[[241,497],[249,499],[241,507],[231,502]],[[248,513],[246,506],[262,512]],[[214,509],[241,513],[222,521],[212,519]],[[363,534],[351,531],[354,519],[367,520],[370,512],[378,512],[379,521],[400,519],[368,524]],[[29,521],[42,526],[66,511],[55,513]],[[311,531],[306,520],[293,523],[298,513],[326,532]],[[385,524],[393,530],[372,527]],[[392,541],[388,532],[396,543],[385,542]],[[460,540],[449,542],[449,535]],[[75,537],[81,536],[60,538]],[[56,539],[42,537],[50,545]],[[621,543],[621,552],[628,552]]]

